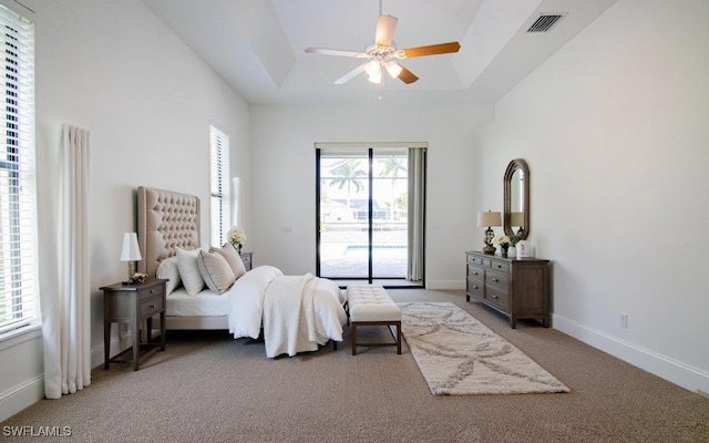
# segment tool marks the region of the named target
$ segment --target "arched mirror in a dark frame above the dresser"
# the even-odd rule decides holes
[[[530,167],[522,158],[507,165],[504,182],[503,226],[507,236],[515,234],[521,240],[530,235]]]

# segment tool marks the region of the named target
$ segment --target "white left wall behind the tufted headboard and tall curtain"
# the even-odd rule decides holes
[[[126,272],[119,255],[122,233],[135,230],[135,188],[146,185],[201,196],[202,237],[208,243],[208,125],[214,122],[229,133],[233,174],[248,179],[248,105],[138,0],[25,3],[37,11],[39,216],[44,245],[51,245],[56,231],[53,179],[60,125],[91,131],[91,347],[95,365],[103,362],[99,288],[121,281]],[[47,284],[52,258],[42,255],[40,264],[41,290],[53,290]],[[18,373],[23,374],[21,381],[0,379],[0,420],[29,404],[23,402],[28,395],[17,401],[18,390],[34,393],[42,383],[42,362],[37,359],[42,353],[41,339],[18,346],[25,359],[16,359],[16,347],[0,350],[0,359],[16,361]]]

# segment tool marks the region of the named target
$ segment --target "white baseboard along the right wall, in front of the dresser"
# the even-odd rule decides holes
[[[709,392],[709,372],[707,371],[589,328],[563,316],[554,315],[552,321],[554,329],[661,379],[692,392]]]

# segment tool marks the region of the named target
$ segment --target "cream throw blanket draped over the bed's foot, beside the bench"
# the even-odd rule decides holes
[[[311,274],[280,276],[268,285],[264,297],[266,357],[292,357],[318,349],[314,291],[305,290],[311,280]]]

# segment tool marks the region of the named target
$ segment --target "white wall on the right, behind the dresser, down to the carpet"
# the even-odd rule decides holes
[[[485,183],[530,162],[554,327],[705,392],[708,22],[707,1],[618,1],[500,101],[477,142]]]

